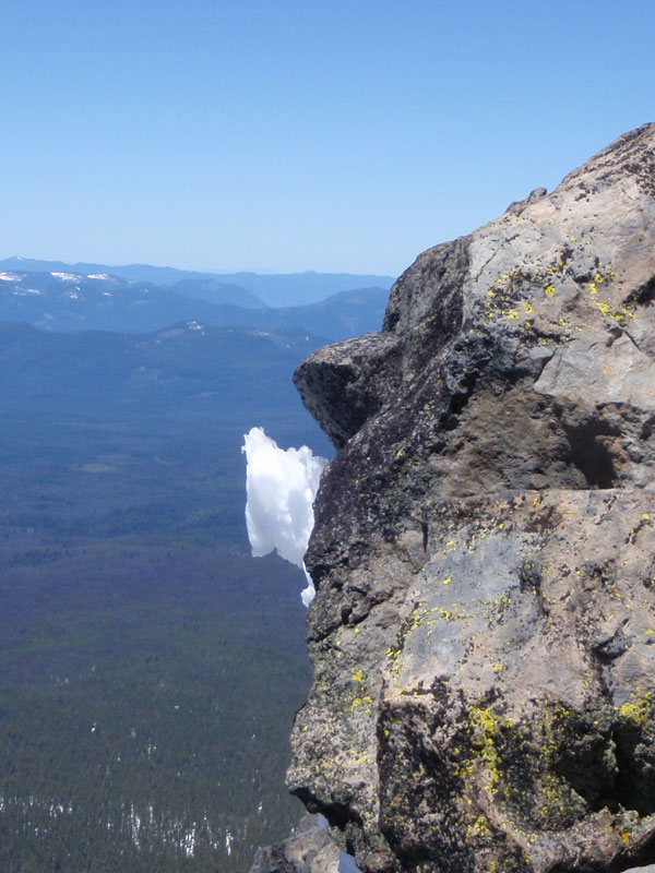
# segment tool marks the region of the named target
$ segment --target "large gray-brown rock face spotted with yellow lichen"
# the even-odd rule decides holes
[[[340,452],[288,779],[362,870],[655,861],[655,124],[296,382]]]

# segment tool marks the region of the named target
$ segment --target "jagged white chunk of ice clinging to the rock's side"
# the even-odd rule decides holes
[[[260,558],[275,549],[281,558],[301,567],[307,577],[301,598],[307,607],[314,587],[302,559],[313,527],[313,501],[327,462],[306,445],[279,449],[263,428],[252,428],[243,440],[246,524],[252,554]]]

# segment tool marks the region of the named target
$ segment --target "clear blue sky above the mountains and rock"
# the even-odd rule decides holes
[[[655,120],[652,0],[4,0],[0,256],[397,274]]]

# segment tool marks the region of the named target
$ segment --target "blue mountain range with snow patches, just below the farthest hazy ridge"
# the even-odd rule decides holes
[[[196,321],[214,327],[301,328],[333,342],[379,330],[386,298],[384,288],[356,288],[318,303],[271,309],[246,289],[207,278],[160,287],[107,273],[0,272],[0,321],[57,332],[147,333]]]

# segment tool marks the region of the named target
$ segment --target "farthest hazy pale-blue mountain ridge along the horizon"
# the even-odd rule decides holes
[[[362,275],[354,273],[202,273],[190,270],[176,270],[169,266],[152,266],[151,264],[128,264],[123,266],[108,266],[107,264],[76,263],[68,264],[63,261],[39,261],[29,258],[5,258],[0,261],[0,272],[17,273],[74,273],[87,276],[90,274],[108,274],[129,279],[134,283],[150,283],[169,288],[178,286],[179,294],[192,297],[202,297],[212,302],[233,302],[241,307],[270,306],[291,307],[306,303],[315,303],[326,297],[354,288],[384,288],[389,290],[394,283],[392,276]],[[216,284],[221,295],[224,289],[230,289],[237,297],[217,299],[215,296],[206,297],[202,291],[203,280]],[[184,286],[180,286],[184,283]],[[189,286],[188,283],[194,283]],[[238,290],[237,290],[238,289]],[[207,294],[215,291],[205,287]],[[239,299],[238,295],[241,295]],[[255,302],[252,301],[254,297]]]

